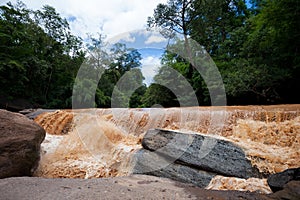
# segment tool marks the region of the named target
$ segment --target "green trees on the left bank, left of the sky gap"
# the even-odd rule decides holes
[[[19,1],[1,6],[0,14],[1,107],[71,108],[75,78],[84,61],[91,62],[91,68],[85,72],[87,79],[77,83],[76,90],[81,93],[75,96],[83,106],[93,98],[96,105],[86,106],[110,107],[114,87],[126,71],[131,71],[131,77],[125,81],[131,78],[131,83],[143,86],[139,91],[144,93],[137,50],[124,44],[109,49],[102,35],[89,36],[83,44],[81,38],[70,33],[67,20],[51,6],[33,11]],[[99,69],[103,69],[100,81],[90,76]],[[90,89],[93,85],[95,91]],[[137,94],[138,91],[130,100],[129,94],[120,92],[114,95],[114,102],[121,107],[129,106],[125,101],[138,106],[141,97]]]

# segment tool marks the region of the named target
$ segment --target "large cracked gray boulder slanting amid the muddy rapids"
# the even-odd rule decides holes
[[[149,130],[133,157],[133,173],[172,178],[205,187],[215,175],[262,177],[245,152],[230,141],[177,131]]]

